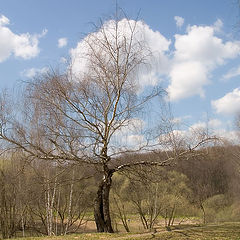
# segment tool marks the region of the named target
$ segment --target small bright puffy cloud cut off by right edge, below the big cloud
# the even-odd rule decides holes
[[[213,108],[220,114],[237,114],[240,111],[240,88],[235,88],[224,97],[211,102]]]

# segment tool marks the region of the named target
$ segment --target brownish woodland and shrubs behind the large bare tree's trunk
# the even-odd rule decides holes
[[[240,175],[233,150],[237,152],[239,147],[211,147],[207,155],[204,149],[202,154],[176,165],[134,166],[119,172],[110,192],[115,230],[131,231],[133,216],[144,229],[159,224],[169,228],[187,219],[200,223],[239,221]],[[155,154],[124,155],[118,161],[152,159],[162,153]],[[86,223],[93,221],[92,207],[100,177],[98,171],[89,171],[83,165],[29,162],[21,152],[2,156],[2,237],[85,231]]]

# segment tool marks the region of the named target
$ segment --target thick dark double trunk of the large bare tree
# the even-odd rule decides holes
[[[109,193],[113,172],[113,170],[105,167],[103,179],[98,186],[97,196],[94,202],[94,217],[98,232],[114,232],[109,209]]]

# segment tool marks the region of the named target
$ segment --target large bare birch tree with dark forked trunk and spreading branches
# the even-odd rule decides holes
[[[109,192],[114,173],[137,165],[168,165],[205,141],[156,161],[117,161],[123,153],[152,151],[157,145],[153,135],[142,132],[137,135],[144,139],[141,144],[120,144],[121,131],[148,111],[154,98],[164,95],[158,85],[141,89],[139,72],[148,67],[151,52],[144,37],[139,38],[140,23],[126,18],[102,23],[82,40],[85,51],[79,53],[79,64],[76,56],[66,71],[48,72],[26,85],[21,113],[7,114],[11,111],[6,96],[0,99],[0,136],[11,147],[20,148],[29,159],[75,162],[101,175],[94,201],[98,232],[113,232]]]

